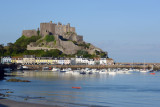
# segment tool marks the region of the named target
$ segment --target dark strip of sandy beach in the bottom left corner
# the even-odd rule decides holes
[[[16,101],[0,98],[0,107],[60,107],[60,106],[16,102]]]

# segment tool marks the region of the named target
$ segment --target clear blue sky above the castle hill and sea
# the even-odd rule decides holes
[[[70,23],[116,62],[160,62],[159,0],[1,0],[0,44],[41,22]]]

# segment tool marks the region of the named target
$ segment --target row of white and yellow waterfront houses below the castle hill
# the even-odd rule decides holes
[[[59,65],[113,65],[112,58],[94,58],[83,57],[76,58],[53,58],[53,57],[35,57],[35,55],[24,55],[23,57],[1,57],[1,63],[19,63],[19,64],[59,64]]]

